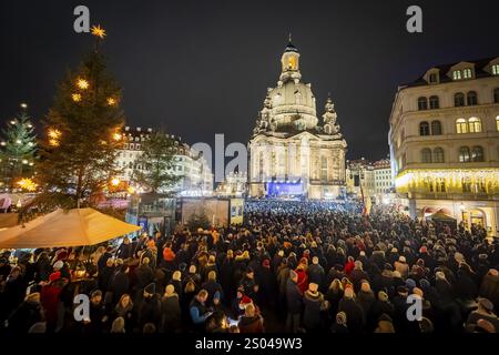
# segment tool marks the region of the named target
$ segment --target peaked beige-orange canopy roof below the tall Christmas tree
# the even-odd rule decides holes
[[[0,231],[0,248],[93,245],[140,229],[93,209],[59,209]]]

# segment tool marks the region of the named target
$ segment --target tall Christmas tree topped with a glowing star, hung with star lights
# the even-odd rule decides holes
[[[35,175],[41,194],[29,206],[39,211],[93,205],[118,173],[121,90],[99,51],[104,31],[94,28],[92,33],[95,49],[60,83],[43,122]]]

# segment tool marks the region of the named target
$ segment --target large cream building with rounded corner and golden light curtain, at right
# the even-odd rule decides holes
[[[413,216],[435,211],[498,234],[499,58],[430,68],[400,85],[390,160]]]

